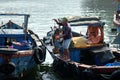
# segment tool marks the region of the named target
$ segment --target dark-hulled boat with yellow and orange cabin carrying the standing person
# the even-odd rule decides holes
[[[68,18],[68,22],[73,29],[77,27],[77,30],[81,28],[83,31],[86,27],[87,30],[85,34],[78,33],[79,36],[73,34],[69,47],[70,61],[62,58],[63,49],[53,48],[51,51],[47,48],[54,59],[54,71],[63,77],[72,77],[74,80],[119,80],[119,52],[113,52],[109,44],[104,42],[105,23],[98,17],[95,19],[90,17],[90,20],[71,17]],[[94,37],[91,38],[93,34]],[[54,41],[53,37],[53,46],[55,46]]]

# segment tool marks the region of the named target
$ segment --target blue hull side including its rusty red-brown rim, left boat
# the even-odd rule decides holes
[[[3,63],[3,57],[4,55],[0,54],[0,63],[2,65]],[[27,71],[36,65],[34,61],[34,56],[32,50],[30,51],[19,51],[16,54],[11,55],[11,58],[9,62],[12,62],[15,64],[15,70],[11,73],[14,74],[14,76],[19,75],[23,73],[24,71]],[[1,66],[0,66],[1,67]],[[2,73],[4,74],[4,73]]]

